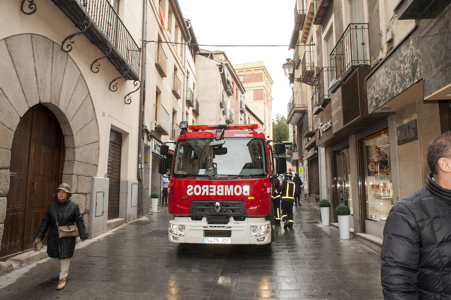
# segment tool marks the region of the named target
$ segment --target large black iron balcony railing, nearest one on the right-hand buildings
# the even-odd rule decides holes
[[[352,66],[370,65],[368,23],[348,25],[330,54],[330,63],[343,81]]]

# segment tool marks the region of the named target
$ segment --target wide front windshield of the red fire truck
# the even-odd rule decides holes
[[[267,174],[265,141],[261,138],[224,138],[220,147],[213,138],[182,139],[177,142],[172,176],[243,176]]]

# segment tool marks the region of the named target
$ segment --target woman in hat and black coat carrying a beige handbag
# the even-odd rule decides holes
[[[49,234],[47,235],[47,254],[49,257],[60,260],[61,269],[57,289],[62,289],[66,286],[66,277],[69,272],[70,259],[74,255],[76,237],[60,238],[58,225],[77,224],[82,241],[88,238],[88,234],[86,233],[85,222],[83,221],[78,204],[71,200],[72,190],[70,185],[62,183],[55,191],[56,201],[50,203],[42,219],[38,234],[36,234],[35,241],[42,240],[47,229],[50,227]]]

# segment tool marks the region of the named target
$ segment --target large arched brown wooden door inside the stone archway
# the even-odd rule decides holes
[[[31,108],[16,129],[11,148],[10,189],[0,257],[32,248],[41,220],[61,182],[64,139],[55,115]],[[45,243],[45,240],[44,240]]]

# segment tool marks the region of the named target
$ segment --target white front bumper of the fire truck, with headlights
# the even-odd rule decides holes
[[[183,231],[179,230],[180,225],[184,226]],[[252,226],[257,226],[258,231],[252,232]],[[261,230],[261,226],[265,229]],[[214,231],[217,231],[218,236],[222,237],[230,231],[231,244],[263,245],[271,243],[271,230],[271,222],[264,217],[248,217],[244,221],[235,221],[231,217],[228,224],[208,224],[206,217],[199,221],[193,221],[190,217],[174,217],[169,221],[168,238],[173,243],[204,244],[205,235],[214,237]]]

